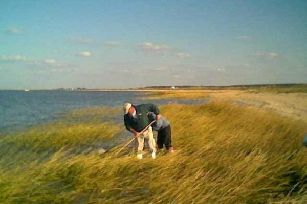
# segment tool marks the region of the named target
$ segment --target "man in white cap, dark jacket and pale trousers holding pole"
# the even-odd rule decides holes
[[[143,134],[140,132],[149,125],[150,120],[147,116],[148,112],[153,112],[157,115],[156,119],[159,120],[161,118],[159,108],[154,104],[140,104],[135,106],[131,103],[124,103],[124,124],[126,129],[132,132],[135,138],[139,142],[138,146],[138,159],[143,159],[143,148],[144,148],[144,138],[148,138],[148,145],[151,152],[151,157],[153,159],[156,158],[156,143],[155,138],[153,137],[152,127],[149,126]]]

